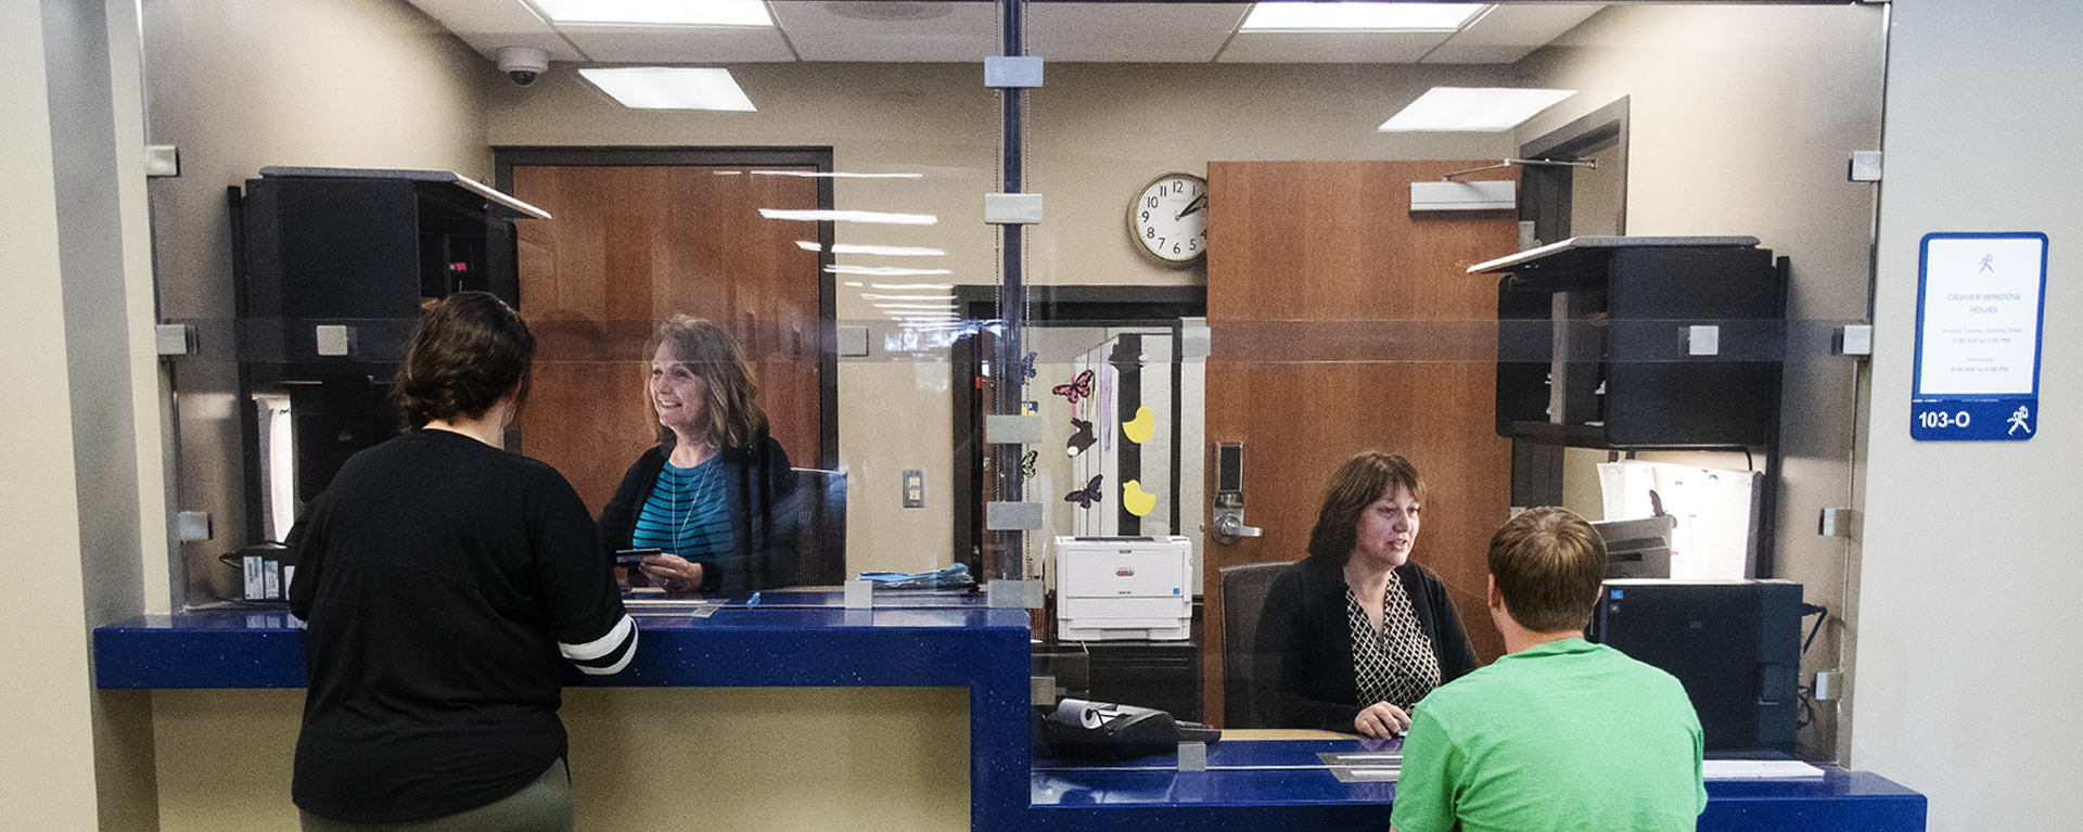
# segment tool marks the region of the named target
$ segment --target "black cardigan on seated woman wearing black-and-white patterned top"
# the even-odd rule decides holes
[[[1396,567],[1419,630],[1439,657],[1439,684],[1475,669],[1475,649],[1460,628],[1446,584],[1416,563]],[[1279,573],[1258,617],[1254,707],[1277,728],[1352,734],[1360,688],[1352,669],[1352,621],[1346,617],[1344,563],[1308,557]],[[1373,705],[1373,703],[1366,703]]]

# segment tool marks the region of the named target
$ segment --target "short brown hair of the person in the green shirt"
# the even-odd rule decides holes
[[[1606,580],[1606,540],[1568,509],[1527,509],[1489,538],[1489,573],[1521,628],[1583,630]]]

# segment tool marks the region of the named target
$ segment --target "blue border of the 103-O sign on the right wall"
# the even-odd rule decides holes
[[[2039,298],[2033,315],[2029,394],[1925,394],[1925,292],[1931,240],[2039,240]],[[2048,327],[2048,236],[2041,231],[1933,231],[1916,244],[1916,361],[1910,365],[1910,438],[1918,442],[2025,442],[2039,434],[2039,357]],[[2023,432],[2023,434],[2021,434]]]

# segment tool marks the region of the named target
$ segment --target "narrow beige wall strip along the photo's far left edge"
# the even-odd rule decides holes
[[[46,98],[44,23],[37,4],[0,6],[0,386],[15,400],[0,415],[0,530],[8,563],[40,580],[0,588],[10,634],[0,680],[0,801],[25,828],[94,826],[94,728],[73,415],[67,382],[58,204]],[[35,473],[31,473],[35,471]]]

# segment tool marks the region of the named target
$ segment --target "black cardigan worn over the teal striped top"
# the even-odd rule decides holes
[[[717,461],[725,465],[725,496],[731,500],[733,555],[702,565],[702,592],[750,592],[794,584],[796,538],[798,538],[798,488],[796,471],[787,463],[781,442],[760,434],[752,448],[723,448]],[[664,469],[664,446],[654,446],[637,457],[635,465],[623,473],[623,484],[606,509],[600,509],[600,550],[614,557],[614,550],[629,548],[637,528],[637,513],[658,486],[658,471]],[[754,523],[752,519],[760,519]]]

